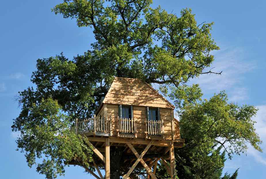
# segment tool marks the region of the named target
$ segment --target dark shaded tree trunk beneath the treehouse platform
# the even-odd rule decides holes
[[[124,147],[111,146],[110,148],[110,179],[120,179],[121,158]]]

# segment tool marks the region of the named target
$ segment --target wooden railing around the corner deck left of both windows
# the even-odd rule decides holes
[[[112,132],[111,118],[76,119],[76,134],[84,133],[110,133]]]

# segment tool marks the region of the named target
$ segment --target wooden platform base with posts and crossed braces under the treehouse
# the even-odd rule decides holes
[[[96,133],[97,134],[97,133]],[[167,161],[171,163],[171,158],[174,158],[174,153],[171,153],[171,149],[173,151],[174,147],[182,147],[183,146],[183,139],[175,140],[175,141],[167,141],[167,140],[143,140],[143,139],[136,139],[136,138],[117,138],[117,137],[105,137],[103,135],[91,135],[91,133],[81,134],[83,137],[88,137],[90,141],[87,145],[91,146],[94,155],[92,161],[90,163],[91,166],[96,167],[104,167],[107,169],[108,156],[110,157],[110,146],[111,147],[119,147],[123,149],[123,157],[121,158],[122,163],[126,163],[127,165],[131,165],[132,171],[134,168],[143,168],[146,166],[147,173],[151,176],[151,178],[156,179],[151,168],[153,165],[157,165],[157,162],[161,160],[161,163],[167,165]],[[108,142],[107,142],[108,141]],[[107,149],[109,147],[109,150]],[[144,152],[144,153],[143,153]],[[139,155],[142,154],[143,155]],[[138,157],[136,157],[138,156]],[[140,158],[140,159],[139,159]],[[174,160],[172,161],[174,163]],[[75,165],[75,161],[72,163]],[[168,165],[167,165],[168,166]],[[172,164],[174,166],[174,164]],[[148,169],[148,168],[149,169]],[[130,169],[131,169],[130,168]],[[169,168],[169,167],[168,167]],[[149,172],[148,172],[149,170]],[[174,172],[174,169],[172,169]],[[131,172],[132,172],[131,171]],[[92,171],[89,171],[90,173]],[[171,172],[171,169],[168,169],[168,172]],[[152,174],[153,175],[152,175]],[[128,173],[128,176],[130,171]],[[101,176],[97,176],[95,173],[92,174],[97,179],[102,179]],[[99,173],[99,175],[101,175]],[[124,176],[124,178],[128,178],[128,176]]]

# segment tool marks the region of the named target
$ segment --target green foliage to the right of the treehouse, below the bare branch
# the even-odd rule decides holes
[[[222,178],[225,153],[231,159],[232,154],[245,153],[247,144],[262,151],[252,120],[257,112],[254,106],[228,103],[224,92],[210,100],[201,100],[199,90],[185,94],[188,94],[186,99],[198,99],[189,103],[184,100],[179,110],[180,133],[185,139],[185,146],[175,150],[179,178],[219,179]],[[237,177],[237,171],[232,178]],[[230,178],[230,175],[226,174],[226,177]]]

